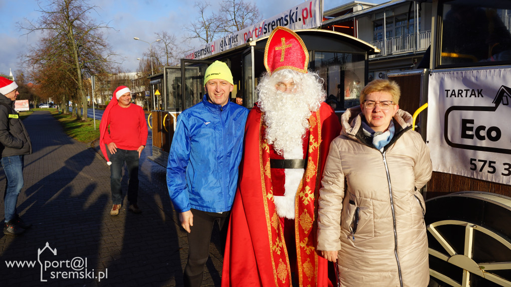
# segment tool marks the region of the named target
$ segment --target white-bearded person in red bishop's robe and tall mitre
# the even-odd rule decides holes
[[[316,206],[339,119],[324,103],[323,80],[307,70],[309,53],[296,33],[273,30],[264,61],[245,126],[222,286],[332,286],[315,247]]]

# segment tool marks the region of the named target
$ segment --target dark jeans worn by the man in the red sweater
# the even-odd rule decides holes
[[[110,155],[110,188],[112,190],[112,203],[121,204],[123,192],[121,190],[121,179],[123,178],[123,165],[126,162],[128,168],[128,202],[136,204],[138,196],[138,152],[117,149],[117,152]]]

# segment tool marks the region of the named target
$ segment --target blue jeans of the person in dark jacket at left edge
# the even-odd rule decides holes
[[[7,156],[0,159],[6,177],[4,193],[6,223],[17,215],[18,194],[23,187],[23,160],[24,156],[22,155]]]

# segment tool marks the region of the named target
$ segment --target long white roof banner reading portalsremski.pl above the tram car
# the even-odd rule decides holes
[[[322,0],[309,0],[249,28],[207,43],[199,49],[184,55],[184,58],[189,60],[201,59],[229,50],[246,43],[249,38],[257,40],[269,36],[271,31],[277,26],[284,26],[291,30],[311,29],[321,26],[322,20]]]

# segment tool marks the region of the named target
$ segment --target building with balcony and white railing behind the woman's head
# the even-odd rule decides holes
[[[431,3],[392,0],[375,5],[354,1],[324,11],[322,29],[364,40],[381,50],[369,56],[368,79],[414,69],[431,44]]]

